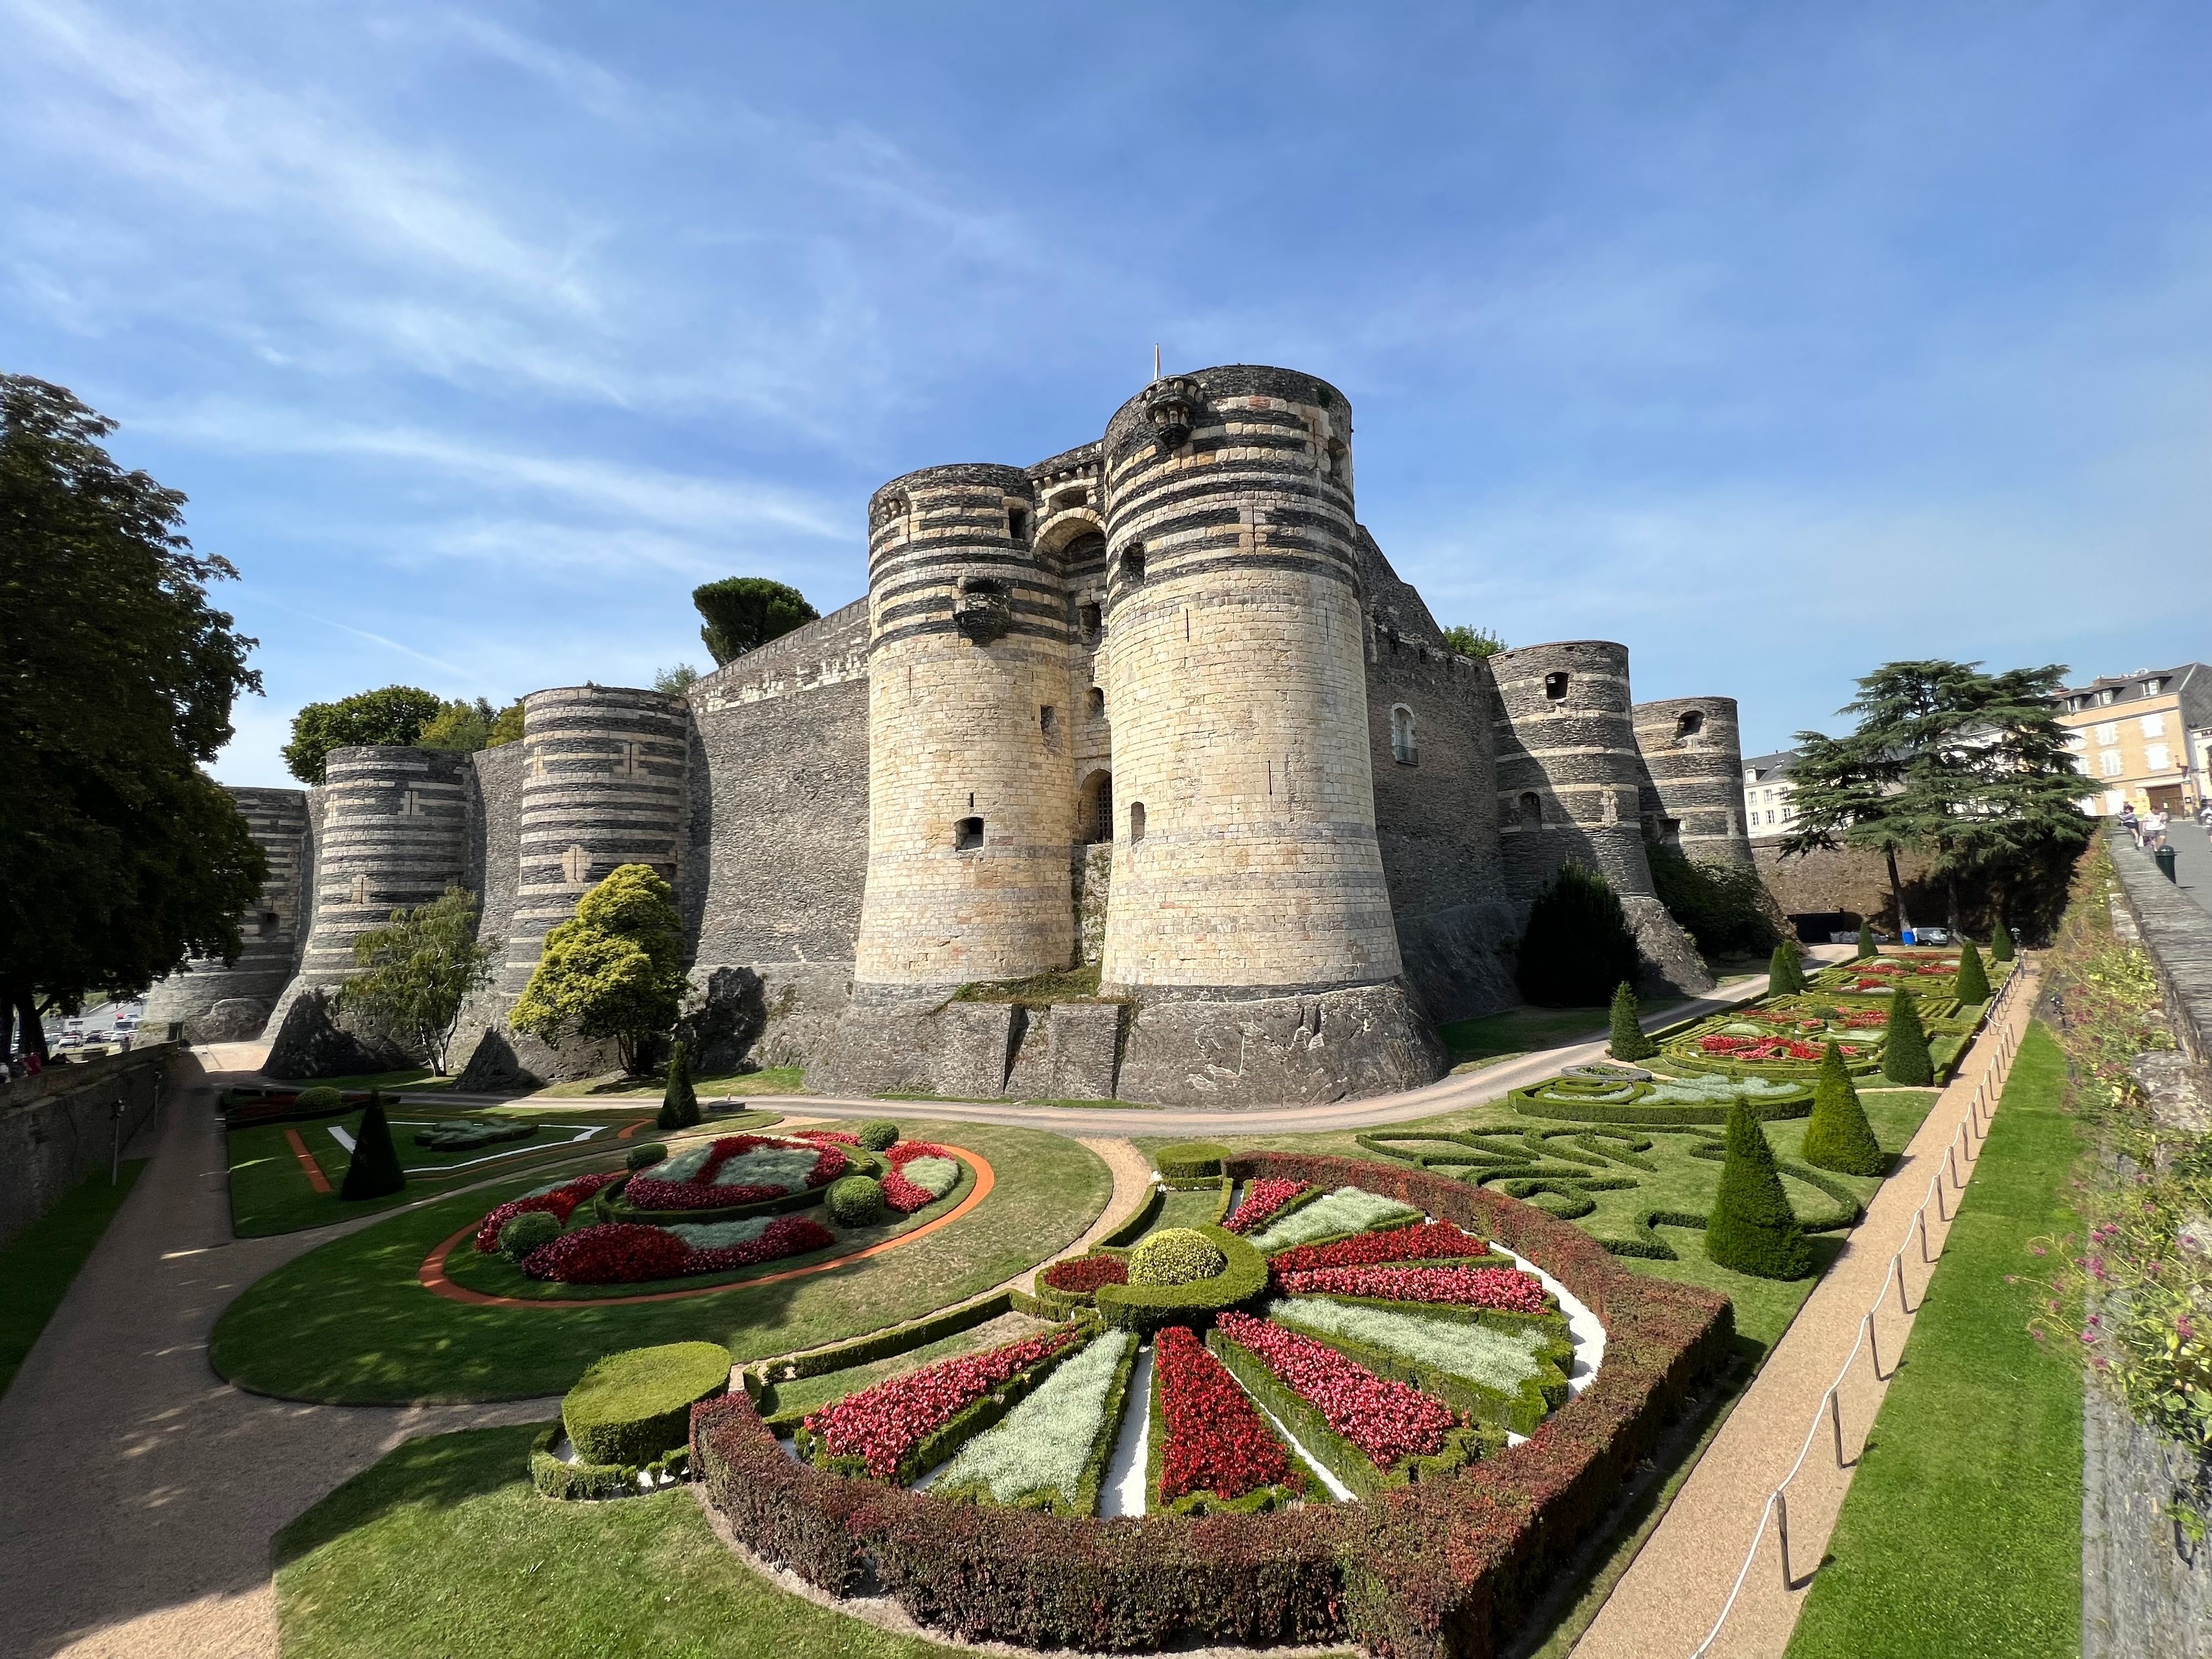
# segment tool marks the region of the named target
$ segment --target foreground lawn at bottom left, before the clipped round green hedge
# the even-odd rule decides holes
[[[540,1498],[535,1429],[409,1440],[276,1535],[285,1659],[925,1659],[951,1655],[779,1590],[690,1491]]]

